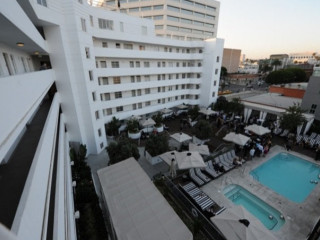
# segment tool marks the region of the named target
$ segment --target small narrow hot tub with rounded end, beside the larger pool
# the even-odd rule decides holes
[[[284,217],[278,210],[239,185],[228,185],[223,193],[235,205],[242,205],[247,209],[269,230],[277,231],[285,222]]]

